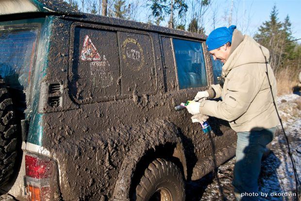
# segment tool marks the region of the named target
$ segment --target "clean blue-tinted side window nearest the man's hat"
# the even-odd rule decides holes
[[[205,60],[200,42],[173,39],[180,89],[207,86]]]

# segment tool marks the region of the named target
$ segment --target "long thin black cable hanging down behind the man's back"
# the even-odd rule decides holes
[[[262,54],[264,55],[264,53],[263,53],[263,51],[262,51],[262,49],[261,49],[261,46],[260,46],[260,50],[261,50]],[[266,73],[267,73],[267,76],[268,76],[268,61],[267,61],[266,55],[264,55],[264,57],[265,57],[265,60],[266,60],[266,68],[267,68],[267,72],[266,72]],[[286,135],[286,133],[285,133],[285,131],[284,131],[284,127],[283,127],[283,124],[282,124],[282,119],[281,119],[281,117],[280,117],[280,115],[279,115],[279,112],[278,112],[278,110],[277,110],[277,106],[276,106],[276,102],[275,102],[275,98],[274,98],[274,94],[273,94],[273,90],[272,90],[272,86],[271,86],[269,77],[268,77],[268,84],[269,84],[269,88],[270,88],[270,90],[271,90],[271,94],[272,94],[272,98],[273,98],[273,103],[274,103],[274,106],[275,106],[275,110],[276,110],[276,113],[277,113],[277,115],[278,115],[278,118],[279,118],[279,121],[280,121],[280,124],[281,124],[281,128],[282,128],[283,133],[284,133],[284,136],[285,136],[286,144],[287,144],[287,147],[288,147],[288,155],[289,155],[290,160],[291,160],[291,162],[292,162],[292,166],[293,166],[293,170],[294,170],[294,175],[295,175],[295,182],[296,182],[296,198],[297,198],[297,201],[299,201],[299,196],[298,196],[298,181],[300,182],[300,179],[299,179],[299,177],[298,177],[297,169],[296,169],[296,166],[295,166],[295,164],[294,164],[294,159],[293,159],[292,153],[291,153],[291,151],[290,151],[290,146],[289,146],[288,138],[287,138],[287,135]],[[298,178],[298,179],[297,179],[297,178]],[[301,183],[300,183],[300,184],[301,184]]]

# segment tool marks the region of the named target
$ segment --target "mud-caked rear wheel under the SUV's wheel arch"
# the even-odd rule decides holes
[[[154,160],[136,187],[136,201],[185,201],[180,168],[164,159]]]

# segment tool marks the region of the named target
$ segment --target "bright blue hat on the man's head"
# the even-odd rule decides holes
[[[208,51],[217,49],[226,44],[227,42],[231,43],[234,29],[236,29],[235,25],[232,25],[229,28],[219,27],[213,30],[206,40]]]

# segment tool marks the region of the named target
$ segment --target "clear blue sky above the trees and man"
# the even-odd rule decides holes
[[[212,15],[215,8],[217,8],[216,28],[228,26],[228,19],[225,20],[224,17],[231,10],[231,0],[211,1],[212,5],[207,10],[204,18],[204,27],[207,35],[213,30]],[[191,0],[186,0],[186,2],[189,6]],[[276,4],[279,20],[284,21],[284,18],[288,15],[292,23],[293,36],[301,38],[301,0],[234,0],[233,2],[232,24],[237,23],[237,28],[242,30],[244,34],[253,36],[257,32],[258,27],[269,19],[273,5]],[[141,9],[144,9],[145,12],[140,13],[138,20],[146,22],[151,12],[145,7]],[[189,12],[191,11],[188,10],[188,16],[190,15]],[[249,26],[247,26],[248,24]],[[161,25],[166,26],[167,21],[162,22]]]

